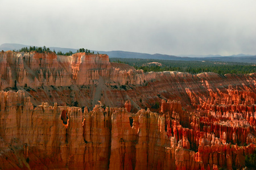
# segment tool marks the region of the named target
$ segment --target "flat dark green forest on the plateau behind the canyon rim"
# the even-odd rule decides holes
[[[252,63],[220,62],[220,61],[176,61],[163,59],[111,58],[112,62],[126,63],[135,69],[149,71],[180,71],[191,74],[214,72],[221,75],[256,73],[256,65]]]

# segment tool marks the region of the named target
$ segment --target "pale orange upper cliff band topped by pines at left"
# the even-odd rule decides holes
[[[15,86],[70,86],[98,84],[100,76],[112,83],[139,84],[143,74],[128,65],[109,62],[106,54],[76,53],[57,56],[52,52],[1,52],[1,89]],[[146,76],[145,78],[148,78]]]

